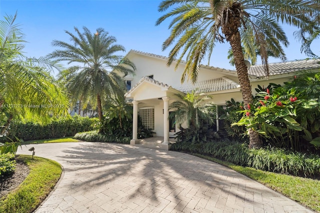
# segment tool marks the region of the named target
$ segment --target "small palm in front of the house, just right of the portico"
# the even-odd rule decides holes
[[[194,90],[186,94],[175,94],[178,99],[169,105],[169,109],[175,110],[170,113],[170,118],[174,118],[178,124],[187,122],[187,127],[198,127],[199,118],[209,120],[210,123],[213,123],[214,114],[212,112],[215,112],[215,110],[212,109],[214,106],[207,102],[210,96],[205,95],[200,98],[201,95],[203,94],[195,94]]]

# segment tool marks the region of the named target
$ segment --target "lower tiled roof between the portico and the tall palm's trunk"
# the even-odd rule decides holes
[[[222,91],[228,89],[239,88],[240,85],[227,77],[219,77],[209,80],[203,80],[196,82],[195,84],[187,83],[182,85],[177,90],[182,92],[190,92],[196,90],[197,92],[212,92],[212,91]]]

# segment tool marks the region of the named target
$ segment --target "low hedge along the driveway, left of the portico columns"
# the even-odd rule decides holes
[[[74,138],[88,142],[115,142],[129,144],[131,136],[115,136],[112,134],[102,134],[98,131],[79,132],[74,135]]]

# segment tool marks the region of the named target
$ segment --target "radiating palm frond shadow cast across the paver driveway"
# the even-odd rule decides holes
[[[244,205],[257,202],[254,193],[270,192],[248,184],[250,178],[223,165],[181,152],[96,142],[64,150],[58,157],[73,165],[71,170],[89,171],[76,187],[107,184],[101,192],[106,196],[112,193],[112,199],[114,193],[122,194],[119,199],[123,202],[140,199],[157,206],[169,201],[217,200],[232,195],[234,202],[240,200]],[[261,196],[261,204],[264,202]]]

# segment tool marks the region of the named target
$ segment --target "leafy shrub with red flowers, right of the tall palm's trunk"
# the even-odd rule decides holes
[[[260,91],[248,110],[238,111],[243,117],[234,124],[254,129],[272,146],[309,150],[312,143],[317,145],[314,142],[317,138],[312,140],[310,132],[320,127],[319,102],[301,99],[290,92],[282,87],[274,88],[273,94],[269,90]],[[309,138],[311,144],[305,138]]]

